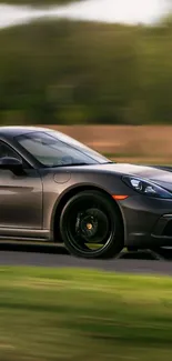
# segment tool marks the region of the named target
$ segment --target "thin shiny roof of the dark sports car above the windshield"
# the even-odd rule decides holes
[[[50,128],[42,127],[0,127],[0,137],[13,138],[34,131],[51,131]]]

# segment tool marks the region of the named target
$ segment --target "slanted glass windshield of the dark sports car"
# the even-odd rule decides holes
[[[44,167],[108,163],[109,160],[63,133],[36,131],[17,141]]]

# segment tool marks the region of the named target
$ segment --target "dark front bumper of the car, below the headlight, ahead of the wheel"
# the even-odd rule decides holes
[[[125,247],[172,247],[172,200],[134,195],[119,205]]]

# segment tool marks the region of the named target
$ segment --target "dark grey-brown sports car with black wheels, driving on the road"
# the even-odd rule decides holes
[[[0,239],[81,258],[172,245],[172,169],[113,162],[59,131],[0,128]]]

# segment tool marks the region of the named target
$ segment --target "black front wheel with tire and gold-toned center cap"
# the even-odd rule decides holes
[[[100,191],[79,192],[65,203],[60,233],[68,251],[79,258],[111,259],[123,249],[117,204]]]

